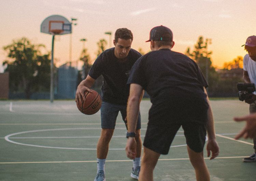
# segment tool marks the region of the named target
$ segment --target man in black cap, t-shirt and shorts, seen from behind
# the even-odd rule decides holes
[[[206,133],[210,159],[218,156],[212,109],[206,82],[196,62],[182,53],[171,51],[172,31],[156,26],[150,31],[151,52],[140,57],[131,69],[127,84],[130,94],[127,105],[128,132],[134,132],[139,115],[140,94],[150,95],[152,107],[148,115],[139,181],[153,181],[153,170],[160,155],[167,155],[175,134],[182,126],[190,162],[197,181],[210,181],[203,158]],[[126,155],[136,157],[136,140],[128,137]]]

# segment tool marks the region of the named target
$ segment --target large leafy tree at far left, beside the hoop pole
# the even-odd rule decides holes
[[[27,38],[21,38],[5,46],[8,57],[13,61],[5,60],[5,72],[9,72],[9,87],[11,91],[24,91],[29,99],[32,92],[49,90],[50,64],[48,54],[42,55],[43,44],[31,44]]]

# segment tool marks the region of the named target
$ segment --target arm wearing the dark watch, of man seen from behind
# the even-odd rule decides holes
[[[127,130],[135,132],[137,120],[140,110],[140,101],[142,98],[143,89],[138,84],[130,85],[130,95],[127,103]],[[136,157],[136,141],[134,137],[129,137],[126,144],[126,156],[130,159]]]

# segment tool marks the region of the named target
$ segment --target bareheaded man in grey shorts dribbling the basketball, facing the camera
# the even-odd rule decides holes
[[[98,171],[94,181],[104,181],[105,160],[109,151],[109,143],[112,138],[115,122],[118,112],[120,111],[125,124],[127,100],[129,88],[127,80],[130,75],[130,69],[136,60],[142,55],[136,50],[131,49],[133,40],[132,32],[126,28],[116,30],[114,39],[114,48],[102,52],[95,60],[88,76],[83,80],[76,90],[76,102],[82,102],[85,99],[84,92],[90,91],[90,87],[95,80],[103,75],[103,85],[101,87],[101,135],[97,144],[97,163]],[[142,98],[143,93],[140,98]],[[85,100],[86,101],[86,100]],[[138,179],[140,172],[140,157],[142,142],[140,138],[141,120],[138,117],[136,131],[130,135],[135,137],[137,142],[137,155],[133,160],[131,177]]]

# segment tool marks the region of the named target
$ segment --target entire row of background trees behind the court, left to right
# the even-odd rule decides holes
[[[212,65],[212,52],[208,51],[210,39],[204,40],[202,36],[198,38],[194,49],[187,48],[188,57],[197,62],[204,74],[209,87],[207,89],[210,97],[235,97],[238,94],[237,83],[243,82],[243,58],[238,56],[233,61],[225,62],[223,69],[217,69]],[[106,40],[101,39],[97,42],[97,56],[106,49]],[[43,44],[32,44],[27,38],[21,38],[3,49],[11,59],[5,60],[5,72],[9,72],[9,90],[10,92],[23,92],[29,99],[34,92],[49,92],[51,79],[51,57],[49,51]],[[141,54],[145,54],[140,48]],[[42,53],[47,52],[47,53]],[[92,66],[87,49],[83,49],[80,55],[80,61],[83,62],[83,69],[78,71],[77,85],[86,78]],[[54,75],[58,75],[58,68],[54,65]],[[103,77],[99,77],[91,89],[100,92]]]

